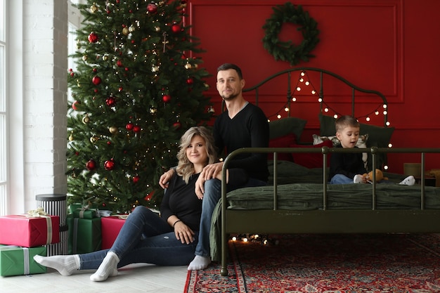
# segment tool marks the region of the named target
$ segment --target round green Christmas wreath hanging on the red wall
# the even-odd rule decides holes
[[[277,5],[272,9],[271,18],[268,18],[263,26],[264,48],[275,60],[287,61],[290,65],[297,65],[301,60],[309,61],[309,58],[314,57],[310,52],[319,42],[319,30],[316,28],[318,23],[309,16],[307,11],[303,11],[301,5],[295,8],[292,3],[287,2],[284,6]],[[278,34],[285,22],[299,25],[297,30],[302,32],[304,38],[301,44],[296,45],[291,40],[280,41],[278,39]]]

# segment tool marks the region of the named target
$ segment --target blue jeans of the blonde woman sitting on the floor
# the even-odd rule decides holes
[[[195,196],[195,195],[194,195]],[[195,240],[189,245],[176,239],[174,229],[146,207],[136,207],[127,217],[110,249],[79,254],[80,270],[98,268],[108,251],[119,257],[118,268],[130,263],[153,263],[160,266],[186,266],[194,258]]]

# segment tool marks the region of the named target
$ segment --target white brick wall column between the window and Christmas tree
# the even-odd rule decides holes
[[[23,0],[23,13],[26,211],[36,207],[35,195],[67,192],[67,1]],[[11,209],[13,214],[24,212],[20,206]]]

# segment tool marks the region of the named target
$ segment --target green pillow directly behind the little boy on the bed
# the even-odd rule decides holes
[[[320,134],[321,136],[334,136],[336,134],[335,118],[326,115],[319,115]],[[388,148],[389,141],[394,132],[394,127],[380,127],[370,124],[361,123],[361,135],[368,134],[367,148],[373,146],[377,148]],[[376,166],[378,169],[382,169],[384,164],[387,164],[387,154],[377,154]],[[367,169],[372,169],[372,157],[368,153]]]

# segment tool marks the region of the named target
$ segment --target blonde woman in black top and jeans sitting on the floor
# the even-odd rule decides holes
[[[129,263],[183,266],[193,259],[198,242],[202,201],[195,195],[195,181],[207,164],[216,162],[214,139],[203,126],[188,129],[181,137],[179,164],[167,185],[161,216],[136,207],[127,217],[110,249],[88,254],[34,256],[43,266],[61,275],[96,269],[92,281],[117,275],[117,268]]]

